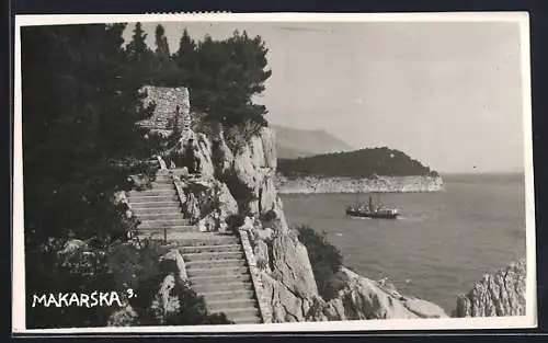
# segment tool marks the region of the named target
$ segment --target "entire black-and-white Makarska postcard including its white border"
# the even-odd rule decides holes
[[[15,20],[14,332],[536,325],[527,13]]]

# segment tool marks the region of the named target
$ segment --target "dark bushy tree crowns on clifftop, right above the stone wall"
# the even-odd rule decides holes
[[[207,119],[228,126],[247,121],[266,125],[266,108],[251,102],[272,73],[265,69],[266,53],[261,37],[250,38],[246,32],[236,31],[224,41],[205,36],[196,43],[185,30],[173,55],[178,82],[192,90],[193,107],[207,113]]]

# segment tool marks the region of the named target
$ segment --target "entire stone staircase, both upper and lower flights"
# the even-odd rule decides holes
[[[179,249],[191,287],[210,313],[224,312],[237,324],[263,322],[240,238],[190,225],[168,170],[158,171],[151,188],[128,192],[128,201],[141,221],[137,237],[163,239]]]

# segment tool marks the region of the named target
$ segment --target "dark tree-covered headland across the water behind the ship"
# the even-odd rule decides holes
[[[437,175],[436,171],[396,149],[367,148],[313,157],[278,159],[278,171],[286,176]]]

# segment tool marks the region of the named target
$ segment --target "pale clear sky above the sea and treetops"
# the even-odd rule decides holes
[[[151,46],[157,24],[142,24]],[[445,173],[523,170],[518,23],[162,25],[172,53],[183,28],[195,39],[260,35],[272,77],[255,102],[270,123],[399,149]]]

